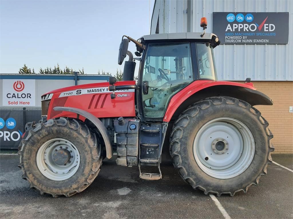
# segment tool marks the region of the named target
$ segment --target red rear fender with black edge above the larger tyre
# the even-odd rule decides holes
[[[248,102],[250,105],[273,105],[272,100],[256,90],[252,83],[231,81],[194,81],[170,100],[163,121],[176,119],[184,109],[204,98],[228,96]]]

